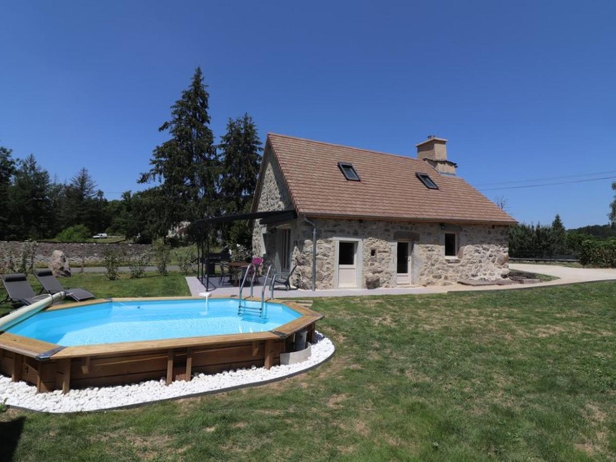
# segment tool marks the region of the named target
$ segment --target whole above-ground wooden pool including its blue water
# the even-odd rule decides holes
[[[288,301],[105,299],[49,307],[0,333],[0,373],[39,391],[266,367],[322,318]],[[248,314],[245,314],[248,313]],[[303,334],[302,334],[303,338]]]

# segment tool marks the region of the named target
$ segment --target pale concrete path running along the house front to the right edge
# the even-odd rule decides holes
[[[545,287],[563,284],[572,284],[580,282],[593,281],[616,281],[616,269],[591,269],[591,268],[570,268],[558,265],[532,265],[532,264],[511,264],[509,267],[513,270],[526,271],[531,273],[547,274],[559,279],[541,282],[532,285],[514,284],[507,286],[465,286],[461,284],[453,284],[449,286],[430,286],[430,287],[407,287],[407,288],[381,288],[381,289],[334,289],[334,290],[278,290],[276,288],[274,296],[278,298],[310,298],[310,297],[343,297],[343,296],[362,296],[362,295],[404,295],[404,294],[443,294],[449,292],[461,291],[480,291],[480,290],[519,290],[530,287]],[[188,288],[193,296],[198,296],[200,292],[205,291],[205,287],[199,282],[196,277],[188,276],[186,278]],[[248,295],[248,290],[245,289],[245,294]],[[214,295],[222,296],[237,296],[238,288],[235,286],[224,286],[216,288],[213,291]],[[254,296],[261,296],[261,286],[255,286]],[[265,296],[269,298],[270,291],[265,291]]]

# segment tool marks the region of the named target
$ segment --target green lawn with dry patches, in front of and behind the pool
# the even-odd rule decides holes
[[[106,282],[101,296],[186,292]],[[145,407],[0,414],[15,460],[615,460],[616,283],[315,299],[337,352],[286,381]]]

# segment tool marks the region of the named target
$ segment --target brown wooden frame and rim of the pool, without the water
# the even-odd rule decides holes
[[[109,301],[195,299],[205,302],[200,297],[113,298],[55,305],[47,310]],[[0,373],[13,381],[36,385],[39,392],[62,389],[66,393],[71,388],[131,384],[161,377],[166,377],[169,384],[174,380],[190,380],[196,372],[212,374],[253,365],[269,369],[280,364],[280,353],[291,351],[296,332],[307,330],[307,340],[314,341],[315,322],[323,316],[292,301],[268,302],[284,304],[301,317],[265,332],[69,347],[2,332]]]

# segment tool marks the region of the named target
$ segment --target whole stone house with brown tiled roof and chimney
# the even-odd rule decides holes
[[[516,221],[429,137],[417,158],[268,134],[253,212],[253,252],[298,288],[497,280]]]

